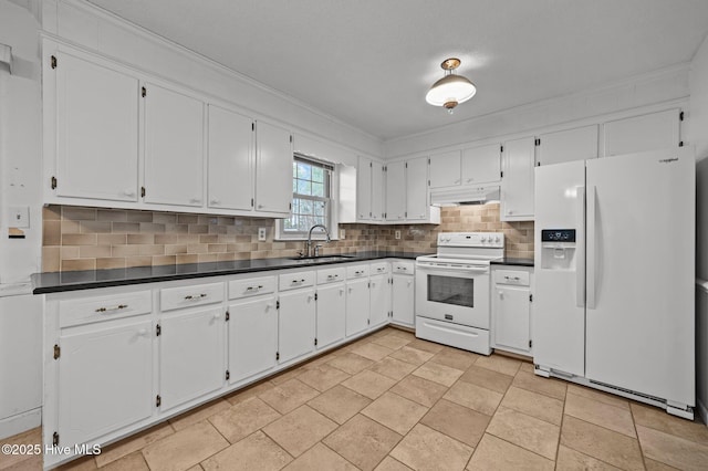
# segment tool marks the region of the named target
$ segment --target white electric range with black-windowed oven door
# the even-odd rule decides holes
[[[490,264],[502,232],[440,232],[438,252],[416,259],[416,337],[491,353]]]

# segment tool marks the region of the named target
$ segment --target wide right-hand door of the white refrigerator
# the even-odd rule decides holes
[[[586,376],[693,405],[695,157],[587,163]]]

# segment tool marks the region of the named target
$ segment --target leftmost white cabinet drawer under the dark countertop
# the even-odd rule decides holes
[[[59,325],[60,327],[70,327],[72,325],[149,314],[152,311],[153,296],[149,290],[137,293],[65,300],[59,302]]]

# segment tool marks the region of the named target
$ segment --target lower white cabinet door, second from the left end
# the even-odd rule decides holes
[[[221,307],[166,315],[159,323],[160,410],[223,386],[225,315]]]

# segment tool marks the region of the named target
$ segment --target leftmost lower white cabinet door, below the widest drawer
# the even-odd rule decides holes
[[[150,417],[153,336],[144,321],[61,337],[62,443],[83,443]]]

